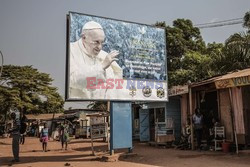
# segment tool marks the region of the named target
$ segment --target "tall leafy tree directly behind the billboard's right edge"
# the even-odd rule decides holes
[[[194,27],[192,21],[188,19],[175,20],[173,27],[166,26],[165,22],[157,22],[156,26],[165,27],[166,29],[169,85],[179,85],[187,83],[188,80],[197,80],[192,72],[195,68],[184,69],[183,59],[185,59],[187,53],[189,55],[205,54],[206,45],[199,28]],[[197,58],[197,56],[194,55],[193,58]]]

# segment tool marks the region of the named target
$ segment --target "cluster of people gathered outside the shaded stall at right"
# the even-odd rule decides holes
[[[207,145],[210,147],[211,142],[214,139],[214,128],[220,126],[219,120],[212,117],[204,117],[199,108],[195,109],[195,113],[192,115],[191,119],[194,129],[194,137],[197,142],[197,149],[201,150],[202,138],[204,132],[206,132]],[[191,121],[187,120],[187,124],[183,129],[183,138],[188,143],[188,148],[191,148]],[[208,132],[208,133],[207,133]]]

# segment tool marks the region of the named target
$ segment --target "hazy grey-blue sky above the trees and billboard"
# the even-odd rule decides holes
[[[194,25],[243,18],[249,0],[0,0],[0,50],[4,64],[32,65],[50,74],[65,95],[66,15],[69,11],[152,25],[178,18]],[[241,24],[201,29],[206,43],[245,31]],[[66,103],[82,108],[84,102]]]

